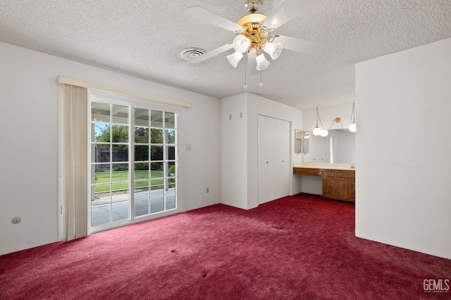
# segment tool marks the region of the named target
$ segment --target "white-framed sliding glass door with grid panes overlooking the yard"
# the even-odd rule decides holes
[[[90,115],[92,231],[177,209],[177,114],[101,99]]]

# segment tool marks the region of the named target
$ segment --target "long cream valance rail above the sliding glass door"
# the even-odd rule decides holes
[[[191,107],[190,102],[175,100],[175,99],[161,97],[161,96],[155,96],[155,95],[151,95],[149,93],[139,93],[139,92],[135,92],[135,91],[128,91],[128,90],[116,88],[113,86],[104,86],[101,84],[94,84],[92,82],[88,82],[88,81],[84,81],[84,80],[80,80],[80,79],[74,79],[74,78],[70,78],[70,77],[65,77],[65,76],[61,76],[61,75],[58,76],[58,84],[70,84],[72,86],[82,86],[87,89],[97,89],[97,90],[101,90],[101,91],[109,91],[112,93],[121,93],[123,95],[141,98],[141,99],[145,99],[145,100],[152,100],[152,101],[156,101],[156,102],[160,102],[160,103],[168,103],[168,104],[183,106],[183,107],[187,107],[187,108]]]

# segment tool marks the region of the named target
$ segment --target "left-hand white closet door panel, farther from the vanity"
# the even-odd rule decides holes
[[[276,119],[258,119],[258,195],[259,204],[276,199]]]

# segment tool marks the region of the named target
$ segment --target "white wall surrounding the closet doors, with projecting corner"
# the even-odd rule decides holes
[[[242,118],[240,118],[242,112]],[[233,115],[230,120],[229,115]],[[252,209],[257,202],[258,115],[291,122],[292,163],[302,162],[295,153],[295,128],[302,124],[302,110],[252,93],[221,99],[221,203]],[[300,178],[290,176],[290,195],[301,191]]]

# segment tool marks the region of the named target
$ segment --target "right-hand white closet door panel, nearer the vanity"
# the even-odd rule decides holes
[[[275,147],[276,197],[274,199],[278,199],[290,195],[290,122],[276,119]]]

